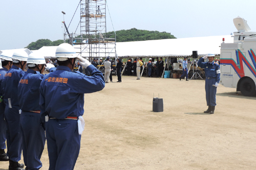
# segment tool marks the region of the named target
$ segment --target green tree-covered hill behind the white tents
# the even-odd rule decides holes
[[[79,38],[79,37],[80,36],[77,36],[75,38]],[[106,33],[105,35],[103,35],[103,37],[115,38],[114,31]],[[159,31],[138,30],[136,28],[133,28],[130,30],[116,31],[116,42],[145,41],[145,40],[173,39],[173,38],[176,38],[176,37],[170,33],[159,32]],[[68,42],[68,40],[66,40],[66,42]],[[56,41],[51,41],[49,39],[38,39],[35,42],[31,42],[25,48],[29,48],[29,50],[38,50],[42,46],[58,46],[61,43],[63,43],[63,40],[60,40],[60,39]]]

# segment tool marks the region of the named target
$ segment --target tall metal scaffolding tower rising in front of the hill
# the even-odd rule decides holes
[[[106,0],[80,0],[80,34],[71,34],[81,57],[116,57],[116,36],[107,33]],[[66,34],[66,39],[70,39]]]

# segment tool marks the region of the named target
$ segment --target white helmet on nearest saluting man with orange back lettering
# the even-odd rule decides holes
[[[59,61],[66,61],[69,58],[76,58],[76,51],[72,45],[62,43],[57,47],[55,56]]]

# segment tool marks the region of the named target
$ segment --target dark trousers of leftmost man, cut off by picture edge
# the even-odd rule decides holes
[[[6,122],[5,122],[5,104],[0,103],[0,149],[6,149]]]

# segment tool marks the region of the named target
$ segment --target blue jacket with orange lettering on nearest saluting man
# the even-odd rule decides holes
[[[101,71],[93,65],[87,69],[91,77],[79,71],[72,72],[67,66],[57,66],[56,71],[42,79],[39,102],[42,118],[46,114],[57,119],[83,115],[84,93],[100,91],[105,87]]]

